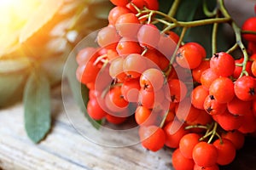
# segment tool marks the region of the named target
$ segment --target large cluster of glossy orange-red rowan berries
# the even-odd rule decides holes
[[[245,135],[256,132],[252,45],[249,59],[227,52],[207,59],[201,44],[182,44],[174,31],[159,31],[151,22],[157,0],[110,1],[116,6],[97,33],[99,47],[86,47],[76,58],[77,78],[90,89],[89,116],[114,124],[134,116],[143,147],[176,149],[175,169],[230,164]],[[244,30],[255,30],[251,22]],[[255,35],[245,39],[256,46]]]

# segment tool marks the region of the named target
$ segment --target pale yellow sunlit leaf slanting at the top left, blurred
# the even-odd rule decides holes
[[[38,12],[27,21],[26,26],[21,30],[19,42],[25,42],[49,20],[51,20],[61,7],[62,3],[63,0],[44,0],[42,5],[38,8]]]

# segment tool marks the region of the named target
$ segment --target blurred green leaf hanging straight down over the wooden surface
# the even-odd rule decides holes
[[[50,86],[42,71],[32,71],[23,96],[26,133],[33,142],[44,139],[50,128]]]

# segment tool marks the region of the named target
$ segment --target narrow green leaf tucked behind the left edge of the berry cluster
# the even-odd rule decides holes
[[[80,110],[84,113],[84,116],[97,129],[101,127],[102,121],[93,120],[87,113],[85,106],[89,100],[89,89],[84,84],[81,84],[76,78],[76,70],[78,68],[75,55],[72,53],[67,59],[67,65],[65,65],[64,74],[67,76],[67,81],[73,93],[73,98],[79,105]]]

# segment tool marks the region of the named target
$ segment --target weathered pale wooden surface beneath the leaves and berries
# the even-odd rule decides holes
[[[70,95],[66,111],[61,87],[52,93],[53,127],[40,144],[33,144],[26,136],[21,103],[0,110],[0,167],[8,170],[172,169],[171,150],[153,153],[140,144],[113,148],[84,139],[66,115],[66,112],[79,110],[70,92],[65,89],[64,94]]]

